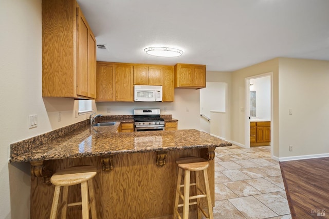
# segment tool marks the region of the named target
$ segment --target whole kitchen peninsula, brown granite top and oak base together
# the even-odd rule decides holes
[[[98,218],[170,218],[173,211],[178,157],[209,160],[208,177],[214,205],[214,149],[231,145],[197,130],[116,133],[113,126],[80,124],[36,148],[11,145],[10,162],[31,163],[31,218],[50,214],[54,186],[49,177],[73,166],[93,165]],[[42,141],[42,138],[39,138]],[[79,187],[72,186],[68,202],[77,202]],[[72,207],[68,218],[81,218]]]

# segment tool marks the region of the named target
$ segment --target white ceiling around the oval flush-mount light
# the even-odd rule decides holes
[[[276,57],[329,60],[328,0],[78,0],[98,61],[232,71]],[[150,46],[178,48],[153,57]]]

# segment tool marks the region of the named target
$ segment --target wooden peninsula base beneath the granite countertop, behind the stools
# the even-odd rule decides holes
[[[52,173],[74,166],[95,166],[98,218],[171,218],[178,172],[175,160],[178,157],[202,156],[210,160],[208,177],[214,206],[213,151],[214,148],[196,148],[171,150],[165,154],[123,153],[109,157],[45,160],[43,165]],[[49,218],[53,193],[54,186],[45,183],[44,177],[31,174],[31,218]],[[79,201],[80,194],[79,186],[70,187],[68,202]],[[60,218],[60,210],[58,216]],[[81,217],[80,206],[68,209],[67,218]]]

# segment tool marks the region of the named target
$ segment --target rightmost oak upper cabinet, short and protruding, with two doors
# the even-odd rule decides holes
[[[175,88],[206,87],[206,65],[176,64]]]

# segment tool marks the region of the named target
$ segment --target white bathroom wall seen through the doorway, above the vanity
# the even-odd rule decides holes
[[[250,90],[256,92],[256,117],[271,120],[271,77],[250,79]]]

